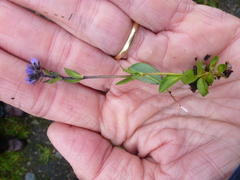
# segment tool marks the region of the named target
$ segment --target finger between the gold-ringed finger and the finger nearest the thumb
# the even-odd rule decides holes
[[[45,69],[66,75],[64,68],[83,75],[114,75],[118,62],[100,50],[76,39],[56,24],[12,3],[1,1],[0,47],[22,59],[38,58]],[[106,79],[82,81],[106,91]]]

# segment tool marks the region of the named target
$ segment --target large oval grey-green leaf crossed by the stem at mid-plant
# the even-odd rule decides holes
[[[146,63],[137,63],[128,68],[131,71],[138,72],[140,75],[142,73],[156,73],[159,72],[155,67],[146,64]],[[162,82],[161,75],[146,75],[143,77],[137,78],[137,80],[146,82],[149,84],[160,84]]]

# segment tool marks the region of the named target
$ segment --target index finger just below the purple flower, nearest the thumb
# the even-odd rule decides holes
[[[46,119],[99,131],[104,96],[80,84],[27,85],[26,62],[0,50],[0,101]]]

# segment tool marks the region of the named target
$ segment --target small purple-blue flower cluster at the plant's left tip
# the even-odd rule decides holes
[[[31,65],[27,65],[26,73],[26,82],[35,85],[43,74],[40,62],[36,58],[31,59]]]

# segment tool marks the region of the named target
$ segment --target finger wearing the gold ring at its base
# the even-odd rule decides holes
[[[132,28],[131,19],[109,1],[11,1],[43,14],[110,55],[120,51]]]

